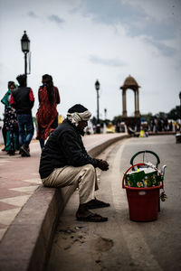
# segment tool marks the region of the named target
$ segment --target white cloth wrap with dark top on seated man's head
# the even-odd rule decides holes
[[[83,107],[80,104],[76,104],[69,108],[67,117],[73,125],[78,126],[80,121],[88,121],[91,117],[91,113],[86,107]]]

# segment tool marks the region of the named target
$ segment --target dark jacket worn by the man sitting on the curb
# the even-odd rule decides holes
[[[48,177],[54,168],[65,165],[81,166],[92,164],[97,167],[98,160],[91,158],[81,140],[81,132],[68,119],[63,120],[50,135],[40,160],[41,178]]]

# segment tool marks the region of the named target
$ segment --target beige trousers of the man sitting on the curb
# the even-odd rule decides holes
[[[80,204],[93,200],[94,192],[98,189],[96,170],[91,164],[55,168],[47,178],[42,179],[42,182],[48,187],[76,184],[79,187]]]

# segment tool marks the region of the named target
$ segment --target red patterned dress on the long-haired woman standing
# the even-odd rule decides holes
[[[41,87],[38,90],[38,97],[40,100],[40,106],[36,113],[37,119],[37,139],[43,138],[44,140],[52,132],[52,123],[57,117],[56,101],[51,105],[48,100],[48,93],[46,87]],[[43,131],[40,132],[40,126]]]

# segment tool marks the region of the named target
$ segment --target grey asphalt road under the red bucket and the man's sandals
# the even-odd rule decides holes
[[[157,220],[135,222],[129,220],[121,180],[132,155],[146,149],[157,153],[161,166],[167,164],[167,201],[161,202]],[[181,270],[181,144],[176,144],[174,135],[129,138],[110,146],[101,156],[107,157],[110,170],[100,175],[97,197],[111,206],[96,211],[109,221],[76,221],[79,198],[75,192],[60,218],[47,271]]]

